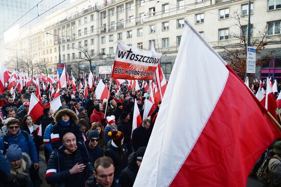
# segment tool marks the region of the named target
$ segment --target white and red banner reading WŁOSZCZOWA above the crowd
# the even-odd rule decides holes
[[[119,43],[111,77],[113,79],[152,80],[161,53],[145,51]]]

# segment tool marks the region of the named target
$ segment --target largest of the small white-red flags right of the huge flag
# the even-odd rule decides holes
[[[272,91],[272,87],[270,86],[269,78],[266,79],[265,108],[277,120],[277,115],[276,115],[277,104],[276,104],[276,101],[274,98],[274,93]]]

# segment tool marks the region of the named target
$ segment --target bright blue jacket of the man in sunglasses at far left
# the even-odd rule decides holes
[[[26,132],[26,133],[28,134],[28,132]],[[26,140],[25,135],[23,135],[21,133],[21,130],[19,130],[15,136],[10,134],[9,132],[6,132],[5,135],[8,136],[8,146],[10,146],[12,144],[18,145],[22,152],[25,152],[30,156],[33,163],[38,163],[38,156],[37,156],[35,143],[33,142],[33,139],[31,138],[31,136],[29,134],[28,134],[28,140]],[[4,138],[1,137],[0,138],[0,151],[3,153],[4,149],[5,149]]]

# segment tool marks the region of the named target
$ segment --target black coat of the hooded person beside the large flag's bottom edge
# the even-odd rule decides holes
[[[119,183],[122,187],[132,187],[138,172],[135,152],[129,155],[128,166],[121,172]]]

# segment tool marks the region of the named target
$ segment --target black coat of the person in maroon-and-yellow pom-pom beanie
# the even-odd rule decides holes
[[[108,142],[107,149],[105,151],[105,156],[109,156],[113,160],[114,168],[115,168],[114,179],[119,179],[121,171],[124,170],[124,168],[127,166],[128,158],[127,158],[126,150],[125,150],[125,154],[123,155],[123,160],[121,160],[119,156],[118,148],[113,147],[111,145],[111,140],[110,140]]]

